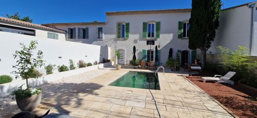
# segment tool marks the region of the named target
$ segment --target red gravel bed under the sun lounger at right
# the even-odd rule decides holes
[[[241,85],[203,83],[200,76],[186,76],[199,88],[214,97],[240,118],[257,118],[257,101],[249,98],[257,97],[257,91]]]

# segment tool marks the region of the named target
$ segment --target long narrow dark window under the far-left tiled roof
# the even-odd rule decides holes
[[[7,25],[1,25],[1,24],[0,24],[0,31],[35,36],[34,29],[25,29],[25,28],[19,28],[19,27],[7,26]]]

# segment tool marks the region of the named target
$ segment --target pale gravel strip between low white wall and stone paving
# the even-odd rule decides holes
[[[60,89],[67,89],[74,86],[74,84],[72,83],[75,83],[75,84],[83,83],[83,82],[86,82],[87,80],[93,79],[107,72],[110,72],[110,68],[96,69],[96,70],[88,71],[79,75],[62,78],[62,79],[41,85],[39,87],[42,88],[43,91],[47,91],[47,92],[43,92],[42,99],[57,93]],[[51,86],[52,84],[55,84],[55,85],[59,84],[59,86]],[[9,114],[18,110],[16,101],[11,100],[11,98],[12,98],[11,95],[0,96],[0,118],[6,114]]]

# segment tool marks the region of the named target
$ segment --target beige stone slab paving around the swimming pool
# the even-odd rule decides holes
[[[51,109],[50,113],[79,118],[159,118],[148,89],[107,86],[128,71],[150,72],[141,69],[112,69],[86,82],[71,83],[74,85],[56,93],[44,90],[43,94],[49,96],[42,99],[39,108],[33,112],[43,115]],[[233,118],[210,95],[181,74],[158,73],[158,76],[161,90],[151,92],[162,118]],[[51,86],[57,85],[49,85],[49,89]]]

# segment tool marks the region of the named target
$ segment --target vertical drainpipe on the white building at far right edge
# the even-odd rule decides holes
[[[253,41],[253,37],[254,37],[254,14],[255,14],[255,3],[250,4],[249,8],[251,8],[251,30],[250,30],[250,44],[249,44],[249,55],[251,56],[251,52],[252,52],[252,41]]]

